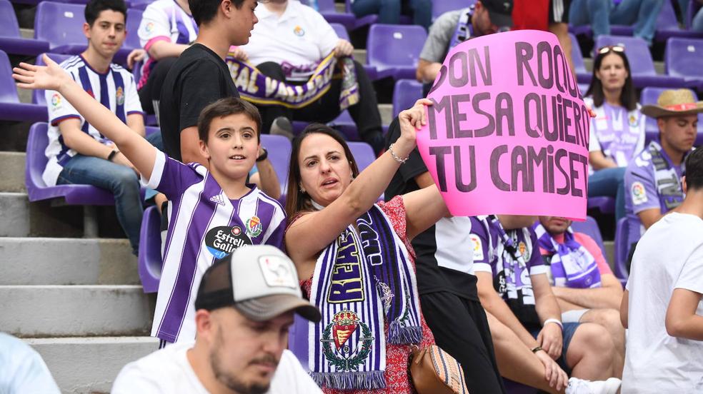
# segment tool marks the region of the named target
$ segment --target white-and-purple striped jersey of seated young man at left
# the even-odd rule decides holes
[[[96,101],[109,108],[121,121],[126,123],[127,116],[141,111],[139,96],[136,94],[136,84],[132,74],[116,64],[110,64],[109,70],[102,74],[95,71],[82,56],[73,56],[61,63],[61,68],[76,81],[83,89],[93,96]],[[71,106],[64,96],[57,91],[45,91],[46,105],[49,108],[49,146],[46,146],[46,163],[42,178],[47,186],[56,186],[59,173],[64,169],[64,163],[76,156],[76,151],[66,146],[59,131],[59,123],[68,118],[81,121],[81,130],[101,143],[111,141],[99,130],[86,122],[85,118]]]

